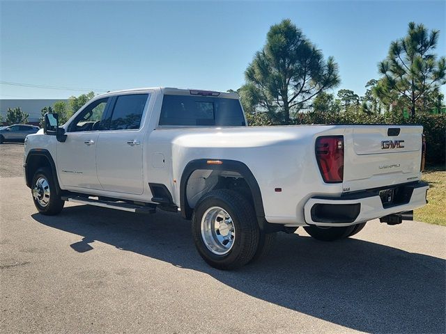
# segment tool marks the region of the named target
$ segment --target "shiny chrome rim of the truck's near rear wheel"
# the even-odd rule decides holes
[[[225,255],[231,250],[236,230],[231,216],[221,207],[210,207],[201,218],[201,237],[214,254]]]

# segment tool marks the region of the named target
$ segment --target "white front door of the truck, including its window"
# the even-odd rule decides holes
[[[64,186],[102,189],[96,174],[96,146],[109,98],[95,100],[68,125],[64,143],[57,143],[57,168]]]

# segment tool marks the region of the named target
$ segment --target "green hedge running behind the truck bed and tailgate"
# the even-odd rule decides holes
[[[247,114],[248,124],[280,125],[280,122],[268,113]],[[339,113],[298,113],[293,119],[294,125],[309,124],[417,124],[424,127],[426,136],[426,163],[445,165],[446,114],[433,115],[418,113],[415,118],[405,119],[392,113],[374,114],[363,111],[343,111]]]

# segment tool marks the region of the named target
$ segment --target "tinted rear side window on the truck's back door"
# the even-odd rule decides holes
[[[121,95],[116,99],[110,130],[139,129],[148,94]]]

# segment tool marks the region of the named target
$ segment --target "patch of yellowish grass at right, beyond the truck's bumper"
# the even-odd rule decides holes
[[[423,181],[429,182],[427,200],[429,203],[415,210],[414,220],[446,226],[446,171],[433,166],[423,172]]]

